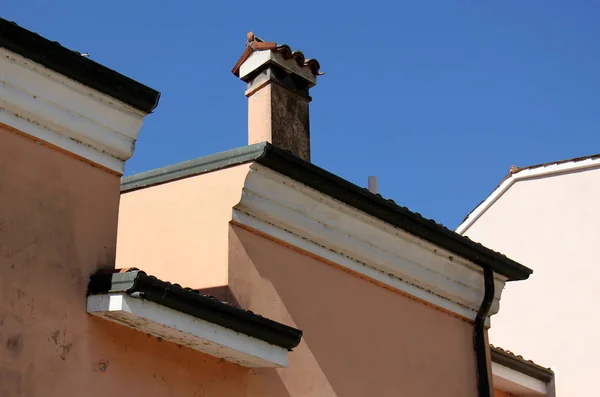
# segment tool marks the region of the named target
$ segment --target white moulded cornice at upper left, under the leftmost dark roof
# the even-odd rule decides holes
[[[0,123],[123,173],[144,114],[0,48]]]

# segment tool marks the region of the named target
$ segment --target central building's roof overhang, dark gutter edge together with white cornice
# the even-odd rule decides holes
[[[495,273],[496,294],[490,316],[499,309],[504,283],[530,272],[433,221],[265,143],[124,178],[121,192],[241,164],[247,165],[244,174],[233,182],[239,187],[232,187],[239,188],[239,201],[222,209],[234,225],[460,317],[473,321],[481,306],[482,267],[489,266]]]

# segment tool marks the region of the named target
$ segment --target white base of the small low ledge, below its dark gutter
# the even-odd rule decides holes
[[[126,293],[90,295],[87,312],[244,367],[286,367],[288,351]]]

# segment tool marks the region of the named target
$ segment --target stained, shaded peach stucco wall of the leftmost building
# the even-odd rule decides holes
[[[238,396],[249,374],[89,317],[119,177],[0,127],[0,396]]]

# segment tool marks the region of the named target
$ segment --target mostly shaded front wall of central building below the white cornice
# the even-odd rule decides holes
[[[231,227],[240,304],[304,331],[286,369],[256,370],[250,396],[476,396],[472,324],[289,247]]]

